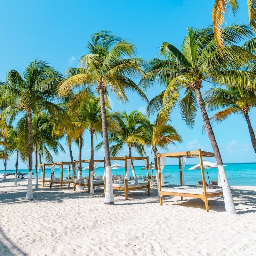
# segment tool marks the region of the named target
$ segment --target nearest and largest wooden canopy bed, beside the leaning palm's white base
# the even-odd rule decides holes
[[[196,151],[185,151],[185,152],[176,152],[176,153],[165,153],[165,154],[157,154],[157,164],[158,169],[160,170],[160,157],[173,157],[179,159],[179,167],[180,167],[180,187],[174,188],[162,188],[161,183],[161,172],[158,172],[158,182],[159,182],[159,197],[160,197],[160,205],[163,205],[163,196],[180,196],[181,200],[183,196],[186,197],[193,197],[193,198],[200,198],[205,203],[206,212],[209,212],[209,204],[208,198],[216,197],[216,196],[223,196],[222,189],[212,189],[206,188],[205,178],[204,178],[204,165],[203,165],[203,157],[214,157],[214,153],[202,151],[198,149]],[[181,170],[181,158],[182,157],[199,157],[199,161],[201,164],[201,174],[202,174],[202,181],[203,181],[203,188],[193,188],[188,186],[182,186],[182,170]]]

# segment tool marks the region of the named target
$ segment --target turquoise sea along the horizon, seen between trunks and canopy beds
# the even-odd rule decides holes
[[[236,163],[236,164],[226,164],[225,171],[228,176],[229,184],[232,186],[256,186],[256,163]],[[187,185],[196,185],[197,180],[202,180],[201,171],[193,170],[190,171],[190,168],[193,165],[186,165],[184,169],[184,179]],[[147,171],[140,170],[142,166],[135,166],[135,171],[137,175],[146,175]],[[28,170],[19,170],[20,172],[27,172]],[[155,170],[150,170],[155,174]],[[4,171],[0,171],[0,174]],[[7,173],[15,172],[15,170],[8,170]],[[33,170],[35,176],[35,170]],[[82,170],[83,176],[88,176],[88,170]],[[217,169],[208,170],[210,180],[217,180]],[[60,169],[56,168],[54,171],[56,177],[60,177]],[[103,167],[95,170],[95,174],[103,175]],[[124,168],[112,170],[113,175],[124,175]],[[129,174],[132,174],[130,171]],[[171,178],[165,178],[165,181],[170,182],[171,184],[180,184],[180,173],[178,165],[165,165],[163,174],[172,174]],[[41,177],[41,171],[38,173],[39,178]],[[45,169],[45,177],[51,176],[51,170]],[[64,177],[68,176],[68,171],[64,171]],[[205,180],[208,181],[207,172],[205,170]]]

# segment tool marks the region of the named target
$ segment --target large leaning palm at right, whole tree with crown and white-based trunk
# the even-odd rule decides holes
[[[255,83],[255,73],[241,71],[243,65],[255,60],[248,50],[231,45],[244,36],[251,35],[247,26],[232,26],[223,30],[226,46],[219,53],[213,31],[211,28],[192,29],[188,28],[181,50],[169,43],[163,43],[160,55],[164,59],[153,59],[148,64],[148,73],[144,76],[141,84],[148,86],[153,82],[159,82],[166,89],[149,103],[148,109],[159,111],[156,121],[156,132],[161,123],[166,122],[172,108],[179,101],[179,91],[185,89],[185,97],[180,100],[180,108],[183,120],[189,126],[194,125],[197,104],[202,113],[204,127],[210,139],[216,162],[219,166],[222,189],[225,199],[226,211],[236,213],[232,194],[220,156],[208,114],[204,106],[201,94],[203,82],[214,84],[246,84],[252,87]],[[224,56],[224,58],[222,57]]]

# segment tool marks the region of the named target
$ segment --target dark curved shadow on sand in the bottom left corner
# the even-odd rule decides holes
[[[0,255],[4,256],[28,256],[26,252],[23,252],[16,244],[10,241],[9,237],[4,233],[0,227]]]

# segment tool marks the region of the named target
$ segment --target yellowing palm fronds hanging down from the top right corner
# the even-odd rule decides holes
[[[248,14],[250,24],[256,32],[256,1],[247,0],[248,4]],[[224,15],[227,15],[228,9],[231,9],[233,14],[236,14],[238,10],[237,0],[215,0],[212,9],[212,22],[213,31],[218,50],[221,52],[221,48],[224,47],[224,40],[222,38],[221,26],[225,22]]]

